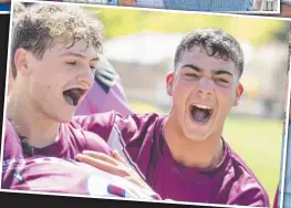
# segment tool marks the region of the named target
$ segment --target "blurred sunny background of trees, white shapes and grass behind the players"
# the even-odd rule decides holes
[[[279,183],[288,67],[289,23],[116,8],[89,8],[105,27],[104,54],[136,113],[166,114],[166,73],[185,33],[205,27],[233,35],[245,52],[245,94],[225,126],[225,139],[254,171],[273,202]]]

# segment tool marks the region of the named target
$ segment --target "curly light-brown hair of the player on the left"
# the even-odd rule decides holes
[[[103,25],[85,10],[75,6],[35,3],[14,7],[11,37],[11,70],[17,77],[15,51],[23,48],[42,59],[46,49],[55,43],[73,46],[84,40],[102,53]]]

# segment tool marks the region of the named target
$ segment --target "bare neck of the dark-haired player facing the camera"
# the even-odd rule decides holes
[[[187,138],[177,119],[169,116],[165,124],[165,139],[174,159],[185,167],[217,167],[224,157],[222,127],[204,141]]]

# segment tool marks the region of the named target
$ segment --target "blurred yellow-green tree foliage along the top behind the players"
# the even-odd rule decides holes
[[[118,8],[89,8],[105,25],[105,38],[112,39],[141,31],[186,33],[196,28],[221,28],[237,39],[249,40],[253,45],[273,39],[285,40],[287,21],[258,17],[194,14],[189,12],[157,12]]]

